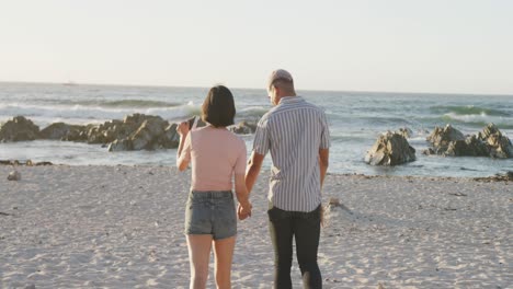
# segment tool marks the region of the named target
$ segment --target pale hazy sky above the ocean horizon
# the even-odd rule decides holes
[[[0,81],[513,94],[509,0],[0,0]]]

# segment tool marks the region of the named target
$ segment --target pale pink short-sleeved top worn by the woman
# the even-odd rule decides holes
[[[191,130],[180,158],[192,162],[194,190],[231,190],[233,174],[246,173],[246,143],[226,128]]]

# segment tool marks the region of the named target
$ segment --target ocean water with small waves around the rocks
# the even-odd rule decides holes
[[[22,115],[43,129],[67,124],[101,124],[141,113],[180,122],[198,115],[208,88],[91,84],[0,83],[0,122]],[[271,104],[265,90],[231,89],[237,119],[258,120]],[[332,147],[330,173],[417,176],[489,176],[513,171],[513,160],[423,155],[425,138],[435,126],[453,125],[477,134],[494,123],[513,138],[513,95],[469,95],[392,92],[298,91],[326,109]],[[409,128],[417,161],[392,167],[372,166],[365,153],[381,132]],[[251,151],[253,136],[242,136]],[[265,170],[270,166],[265,159]],[[109,152],[99,144],[36,140],[0,143],[0,160],[50,161],[71,165],[174,165],[175,150]]]

